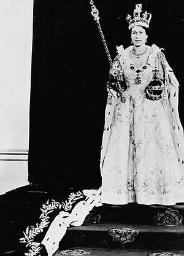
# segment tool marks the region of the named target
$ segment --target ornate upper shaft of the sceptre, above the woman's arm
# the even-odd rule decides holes
[[[110,66],[112,66],[112,58],[110,57],[109,50],[108,50],[107,44],[105,42],[104,34],[102,32],[102,28],[101,28],[101,25],[99,23],[99,11],[98,11],[98,9],[96,9],[96,6],[94,6],[94,1],[93,0],[90,1],[90,4],[91,4],[91,14],[93,15],[94,20],[96,21],[99,33],[101,34],[102,42],[103,42],[104,47],[105,47],[105,52],[107,54],[107,58],[109,59]]]

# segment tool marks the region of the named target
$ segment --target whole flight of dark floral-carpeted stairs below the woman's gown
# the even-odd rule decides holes
[[[56,255],[184,255],[183,204],[95,207],[82,226],[68,228]],[[67,254],[66,250],[86,254]],[[64,254],[63,254],[64,253]],[[77,252],[76,252],[77,253]],[[87,254],[88,253],[88,254]],[[170,253],[170,254],[168,254]]]

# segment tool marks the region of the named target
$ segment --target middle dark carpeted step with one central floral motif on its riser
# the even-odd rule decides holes
[[[123,230],[116,230],[116,236],[113,236],[112,229],[114,228],[123,228]],[[125,228],[129,229],[129,231],[126,231]],[[116,238],[117,241],[115,241]],[[118,222],[70,227],[61,240],[59,249],[77,246],[184,250],[184,227],[123,224]]]

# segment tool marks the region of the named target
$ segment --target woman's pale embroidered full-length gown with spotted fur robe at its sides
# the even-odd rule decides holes
[[[117,47],[118,48],[118,47]],[[122,47],[123,48],[123,47]],[[159,48],[150,47],[147,62],[136,65],[128,49],[119,49],[110,74],[122,70],[125,102],[111,89],[106,106],[101,151],[102,203],[163,204],[184,202],[183,128],[178,116],[178,82],[169,65],[166,93],[145,95]],[[139,72],[139,84],[136,70]]]

